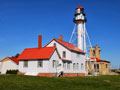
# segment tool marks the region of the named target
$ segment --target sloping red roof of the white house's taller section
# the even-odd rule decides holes
[[[74,46],[72,43],[68,43],[68,42],[65,42],[65,41],[60,40],[60,39],[53,39],[53,40],[57,41],[58,43],[60,43],[61,45],[63,45],[65,48],[67,48],[67,49],[69,49],[69,50],[71,50],[71,51],[75,51],[75,52],[79,52],[79,53],[85,54],[84,51],[82,51],[82,50],[79,49],[78,47]],[[53,40],[51,40],[50,42],[52,42]],[[49,43],[50,43],[50,42],[49,42]],[[49,44],[49,43],[48,43],[48,44]],[[48,44],[47,44],[47,45],[48,45]],[[46,46],[47,46],[47,45],[46,45]]]

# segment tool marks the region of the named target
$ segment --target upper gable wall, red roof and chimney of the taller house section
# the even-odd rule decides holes
[[[47,45],[45,45],[45,47],[51,46],[55,46],[57,48],[62,60],[71,61],[71,52],[85,54],[84,51],[80,50],[73,44],[63,41],[62,35],[60,35],[59,39],[54,38]]]

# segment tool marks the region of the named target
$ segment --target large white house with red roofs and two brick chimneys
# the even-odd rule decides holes
[[[18,57],[19,74],[34,76],[85,76],[85,52],[60,39],[42,46],[39,35],[38,48],[27,48]]]

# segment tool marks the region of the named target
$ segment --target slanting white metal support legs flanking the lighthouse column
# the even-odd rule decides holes
[[[74,28],[73,28],[73,31],[72,31],[72,34],[71,34],[71,37],[70,37],[70,40],[69,40],[69,43],[72,43],[74,44],[75,46],[77,46],[77,35],[78,35],[78,32],[77,32],[77,24],[74,25]],[[86,25],[84,23],[84,28],[83,28],[83,51],[86,53],[85,54],[85,58],[86,58],[86,68],[89,68],[89,70],[87,71],[87,75],[90,73],[90,75],[97,75],[97,73],[95,72],[94,69],[97,69],[97,66],[96,66],[96,58],[95,60],[93,60],[91,62],[91,59],[90,59],[90,56],[89,56],[89,49],[92,48],[92,43],[90,41],[90,38],[89,38],[89,35],[88,35],[88,32],[86,30]],[[92,50],[92,53],[93,55],[95,56],[95,53],[93,52]],[[95,64],[95,68],[92,67],[92,63]]]

